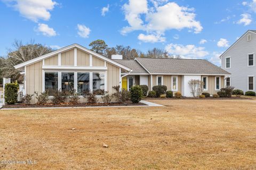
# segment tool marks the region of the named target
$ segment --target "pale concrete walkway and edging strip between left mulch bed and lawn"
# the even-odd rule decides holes
[[[140,103],[146,104],[143,106],[85,106],[85,107],[26,107],[26,108],[2,108],[2,110],[26,110],[26,109],[66,109],[66,108],[111,108],[111,107],[165,107],[156,103],[141,100]]]

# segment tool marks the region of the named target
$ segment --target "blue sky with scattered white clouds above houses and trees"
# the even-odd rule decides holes
[[[256,0],[2,0],[0,13],[0,56],[14,39],[54,48],[89,48],[92,40],[103,39],[109,47],[158,47],[219,65],[222,52],[256,29]]]

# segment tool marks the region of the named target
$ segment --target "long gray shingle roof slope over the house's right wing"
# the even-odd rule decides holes
[[[230,74],[206,60],[167,58],[136,58],[136,60],[150,73]],[[129,67],[128,65],[126,66]],[[133,69],[133,67],[131,67],[131,69]]]

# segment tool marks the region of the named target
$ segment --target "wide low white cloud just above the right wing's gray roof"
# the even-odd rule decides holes
[[[196,47],[195,45],[169,44],[165,46],[165,50],[170,55],[181,55],[185,58],[203,58],[209,55],[204,47]]]

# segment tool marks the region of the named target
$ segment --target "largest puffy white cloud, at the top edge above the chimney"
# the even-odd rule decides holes
[[[195,20],[194,8],[179,6],[176,3],[166,3],[165,0],[151,0],[153,7],[147,0],[130,0],[123,5],[125,20],[129,26],[121,30],[123,35],[142,30],[154,35],[164,35],[166,30],[188,28],[195,33],[202,31],[203,27]],[[163,3],[166,3],[162,5]],[[162,6],[161,6],[162,5]]]

